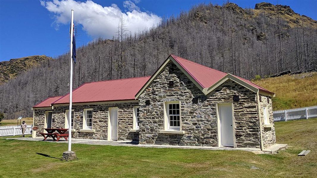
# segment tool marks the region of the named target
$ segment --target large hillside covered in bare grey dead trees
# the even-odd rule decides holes
[[[199,4],[136,34],[119,27],[119,36],[111,40],[96,39],[77,48],[73,87],[152,75],[169,54],[246,79],[288,70],[315,71],[316,21],[293,12],[268,3],[255,9]],[[68,93],[68,77],[68,54],[30,69],[0,85],[0,111],[8,118],[17,113],[31,116],[30,107]]]

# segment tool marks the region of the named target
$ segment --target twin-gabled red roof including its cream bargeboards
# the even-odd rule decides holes
[[[160,68],[152,75],[152,77],[148,80],[148,82],[139,90],[139,92],[135,95],[136,98],[139,97],[143,93],[143,91],[149,87],[149,85],[153,82],[153,80],[165,69],[166,65],[172,61],[174,64],[178,66],[178,68],[184,72],[184,74],[191,79],[193,83],[205,94],[207,95],[221,83],[230,79],[233,80],[244,87],[254,91],[262,91],[264,94],[268,94],[274,96],[274,93],[264,89],[255,83],[252,83],[249,80],[246,80],[241,77],[237,77],[235,75],[231,75],[229,73],[225,73],[222,71],[218,71],[204,65],[189,61],[187,59],[170,55],[165,62],[160,66]]]

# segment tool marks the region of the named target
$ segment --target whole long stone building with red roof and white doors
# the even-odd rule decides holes
[[[274,93],[170,55],[151,77],[85,83],[73,91],[73,138],[265,149],[275,144]],[[68,128],[69,95],[33,107],[34,126]],[[39,136],[39,135],[38,135]]]

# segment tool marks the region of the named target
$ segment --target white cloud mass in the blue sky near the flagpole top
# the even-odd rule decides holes
[[[102,7],[93,1],[76,2],[74,0],[40,1],[41,5],[49,12],[54,13],[53,25],[58,29],[60,24],[70,23],[71,9],[74,9],[74,21],[81,24],[83,30],[93,37],[112,38],[118,29],[121,15],[126,28],[132,33],[143,28],[150,28],[159,23],[161,18],[149,12],[140,11],[139,7],[131,1],[125,1],[124,7],[127,12],[116,5]],[[139,2],[136,0],[136,2]]]

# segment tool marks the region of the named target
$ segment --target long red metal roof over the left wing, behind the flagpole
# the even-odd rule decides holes
[[[73,103],[134,100],[150,77],[126,78],[85,83],[73,91]],[[69,103],[69,94],[53,104]]]

